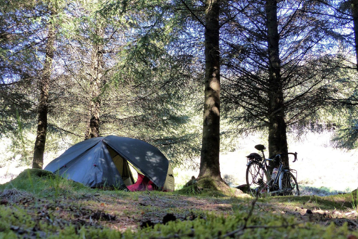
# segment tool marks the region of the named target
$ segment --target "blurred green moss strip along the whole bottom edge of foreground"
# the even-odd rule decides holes
[[[50,220],[32,220],[26,210],[0,206],[1,238],[60,238],[60,239],[146,239],[146,238],[347,238],[358,236],[348,223],[337,226],[301,222],[294,216],[273,214],[250,208],[232,215],[207,213],[193,220],[169,221],[136,231],[109,229],[91,225],[57,225]],[[35,228],[35,230],[34,230]],[[25,236],[25,237],[24,237]]]

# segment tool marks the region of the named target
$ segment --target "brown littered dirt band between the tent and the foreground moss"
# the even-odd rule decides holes
[[[123,194],[123,193],[122,193]],[[255,199],[238,200],[232,198],[198,198],[195,196],[138,193],[133,197],[121,196],[106,191],[95,194],[76,195],[74,198],[38,199],[31,194],[16,189],[4,190],[0,194],[0,204],[16,206],[24,209],[37,223],[50,223],[59,228],[70,224],[81,226],[107,227],[120,231],[136,230],[139,227],[151,226],[156,223],[166,223],[170,220],[193,220],[205,217],[203,211],[229,215],[234,206],[241,206],[242,210],[249,210],[254,206],[257,213],[271,211],[279,214],[294,215],[301,221],[311,221],[322,225],[332,222],[338,226],[347,222],[350,229],[358,229],[357,211],[348,210],[320,210],[309,203],[293,206],[290,203],[260,202]],[[18,233],[24,231],[31,235],[37,229],[34,226],[29,231],[21,227],[12,230]],[[22,231],[19,231],[22,230]],[[31,238],[31,236],[30,236]]]

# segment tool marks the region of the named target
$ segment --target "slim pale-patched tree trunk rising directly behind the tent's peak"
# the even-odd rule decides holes
[[[100,40],[93,45],[92,65],[91,65],[91,102],[89,103],[89,123],[85,139],[91,139],[100,136],[100,110],[101,110],[101,85],[103,75],[103,43],[104,30],[97,27],[96,35]]]

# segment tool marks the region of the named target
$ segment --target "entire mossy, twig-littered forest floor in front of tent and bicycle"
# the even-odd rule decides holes
[[[1,238],[349,238],[357,195],[274,196],[86,188],[43,170],[0,185]]]

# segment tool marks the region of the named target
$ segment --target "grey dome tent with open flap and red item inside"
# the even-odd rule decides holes
[[[136,183],[130,166],[139,175]],[[44,169],[90,187],[174,190],[173,169],[159,149],[139,139],[115,135],[79,142]]]

